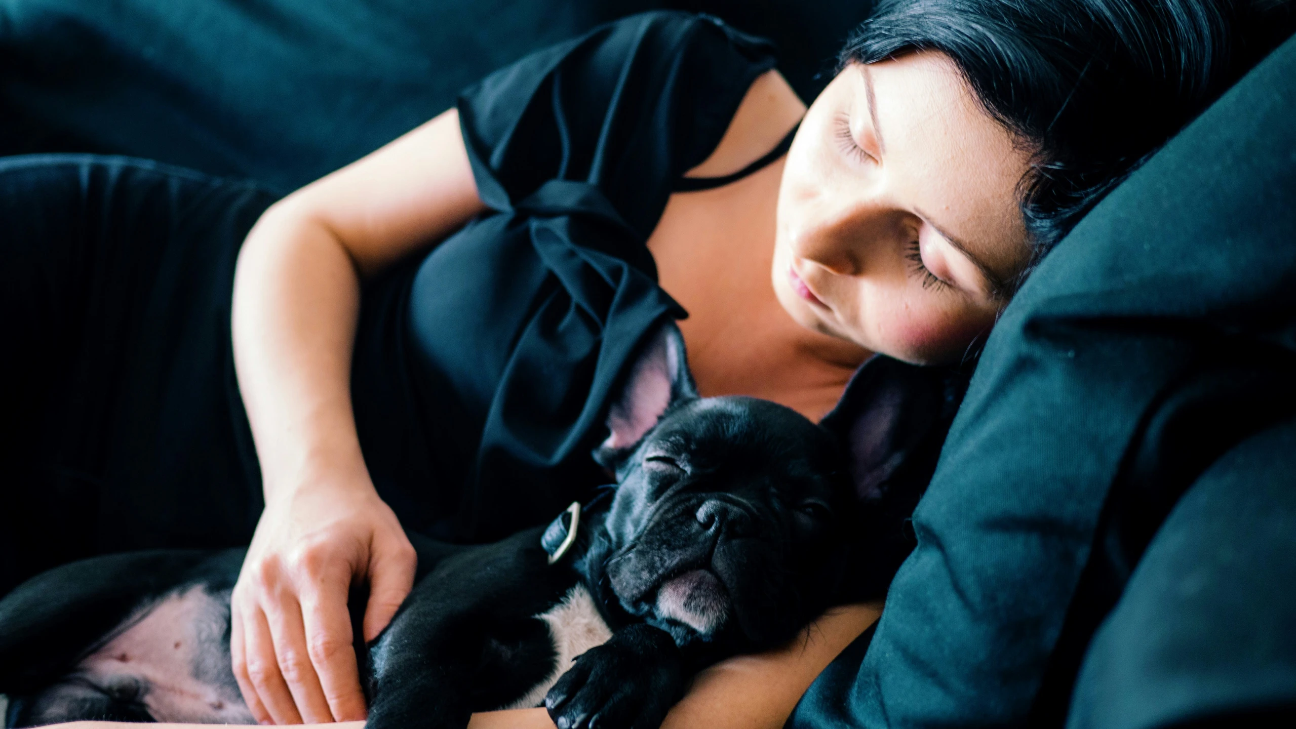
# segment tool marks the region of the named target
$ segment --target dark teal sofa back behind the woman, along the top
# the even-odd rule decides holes
[[[127,154],[292,190],[468,84],[630,13],[767,35],[806,98],[870,0],[0,0],[0,154]],[[829,71],[822,74],[820,71]]]

